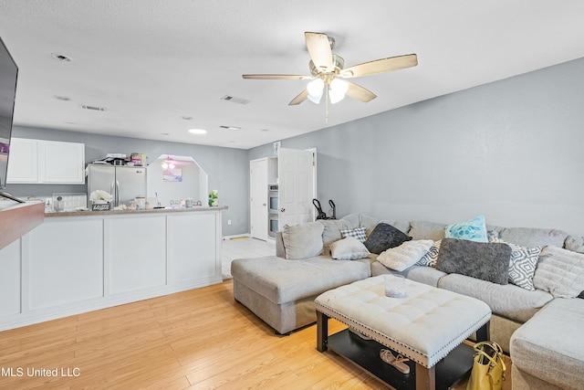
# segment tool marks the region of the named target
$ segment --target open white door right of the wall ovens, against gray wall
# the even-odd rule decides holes
[[[314,153],[280,148],[278,153],[279,228],[314,221]]]

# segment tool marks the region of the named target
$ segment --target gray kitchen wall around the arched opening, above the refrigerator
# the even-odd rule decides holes
[[[224,236],[237,235],[249,231],[249,205],[247,201],[249,163],[247,151],[22,126],[15,126],[12,135],[18,138],[85,143],[86,163],[103,158],[106,153],[145,153],[150,161],[153,161],[161,154],[193,156],[194,160],[209,175],[209,190],[218,190],[220,205],[229,207],[223,212]],[[22,197],[27,195],[51,196],[53,193],[85,193],[87,192],[87,185],[8,184],[6,192]],[[206,199],[202,200],[203,202],[206,201]],[[232,225],[227,225],[228,219],[231,219]]]

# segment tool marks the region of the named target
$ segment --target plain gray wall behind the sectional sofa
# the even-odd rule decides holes
[[[583,108],[580,58],[282,147],[318,148],[318,198],[333,199],[338,216],[453,223],[485,214],[489,224],[584,234]],[[271,153],[257,147],[249,159]]]

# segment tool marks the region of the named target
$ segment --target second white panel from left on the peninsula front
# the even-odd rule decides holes
[[[103,297],[103,222],[56,218],[29,234],[28,309]]]

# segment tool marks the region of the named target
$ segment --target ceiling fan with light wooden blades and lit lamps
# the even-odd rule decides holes
[[[370,90],[347,79],[370,76],[379,73],[411,68],[418,65],[415,54],[407,54],[390,58],[381,58],[365,62],[349,68],[344,68],[345,60],[337,54],[333,54],[335,39],[323,33],[305,32],[310,61],[308,69],[310,75],[282,75],[282,74],[255,74],[243,75],[244,79],[310,79],[307,89],[300,92],[288,105],[294,106],[304,100],[319,103],[323,94],[325,101],[336,103],[345,95],[349,98],[368,102],[377,98]],[[328,110],[327,110],[328,111]],[[327,115],[328,116],[328,115]]]

